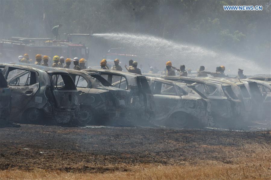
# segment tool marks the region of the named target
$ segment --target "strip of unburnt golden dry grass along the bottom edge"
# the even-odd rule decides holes
[[[32,171],[2,170],[1,179],[271,179],[271,153],[259,152],[232,160],[225,164],[216,161],[203,161],[187,165],[140,164],[126,166],[128,172],[107,173],[68,173],[35,169]]]

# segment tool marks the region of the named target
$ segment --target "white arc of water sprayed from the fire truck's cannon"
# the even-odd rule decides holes
[[[211,71],[217,66],[224,65],[228,74],[236,74],[238,68],[244,68],[245,72],[251,74],[263,72],[263,69],[253,61],[234,54],[182,42],[177,43],[160,37],[131,33],[104,33],[93,34],[93,36],[107,39],[114,45],[132,49],[134,54],[142,56],[142,61],[151,59],[150,61],[160,68],[165,67],[166,61],[172,61],[175,67],[184,64],[192,70],[197,70],[204,65]]]

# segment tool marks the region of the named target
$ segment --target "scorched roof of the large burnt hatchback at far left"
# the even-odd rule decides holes
[[[27,63],[1,63],[0,65],[27,68],[27,69],[35,70],[35,71],[46,71],[47,73],[67,73],[64,70],[59,70],[59,69],[57,69],[55,67],[46,67],[46,66],[40,66],[40,65],[36,65],[36,64],[27,64]]]

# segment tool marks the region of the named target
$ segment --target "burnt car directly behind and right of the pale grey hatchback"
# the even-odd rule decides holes
[[[196,90],[211,101],[211,112],[215,123],[230,122],[241,116],[241,100],[225,82],[205,81],[199,78],[164,76],[163,79],[192,84]]]

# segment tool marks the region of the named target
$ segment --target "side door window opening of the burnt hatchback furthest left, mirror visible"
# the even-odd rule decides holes
[[[36,72],[9,68],[7,81],[9,85],[28,86],[37,83]]]

